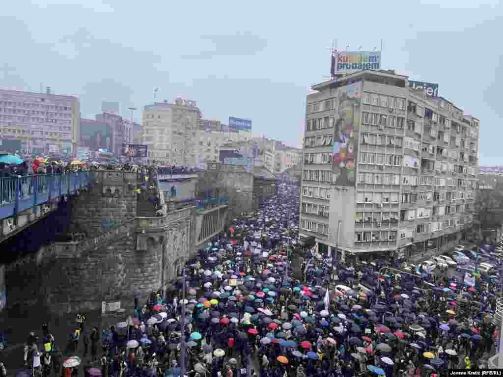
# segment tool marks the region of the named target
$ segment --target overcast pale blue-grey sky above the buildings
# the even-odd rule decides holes
[[[122,115],[158,99],[197,101],[205,118],[249,118],[253,132],[300,146],[305,96],[329,73],[329,47],[379,49],[382,67],[439,83],[480,119],[481,164],[503,164],[502,8],[493,0],[381,2],[6,2],[0,86],[40,83]],[[483,3],[483,4],[481,4]],[[85,4],[85,5],[82,5]],[[499,90],[498,90],[499,89]]]

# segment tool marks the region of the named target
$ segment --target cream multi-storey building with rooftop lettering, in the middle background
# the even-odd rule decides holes
[[[196,165],[197,120],[201,111],[195,101],[180,98],[147,105],[143,109],[142,144],[148,145],[147,163]]]

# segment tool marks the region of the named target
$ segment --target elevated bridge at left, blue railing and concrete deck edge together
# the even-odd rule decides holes
[[[0,178],[0,241],[57,208],[63,197],[94,181],[94,172],[34,174]]]

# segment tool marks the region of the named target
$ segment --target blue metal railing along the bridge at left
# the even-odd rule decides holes
[[[0,178],[0,219],[35,209],[52,198],[71,195],[93,180],[93,171]]]

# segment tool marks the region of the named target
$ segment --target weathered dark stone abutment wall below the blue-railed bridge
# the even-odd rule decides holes
[[[5,262],[8,306],[42,303],[55,313],[72,313],[120,301],[124,308],[132,306],[134,292],[144,300],[152,290],[170,288],[196,247],[222,230],[227,206],[138,217],[136,182],[136,173],[97,171],[90,189],[69,198],[60,224],[68,226],[62,235],[75,241],[52,240]]]

